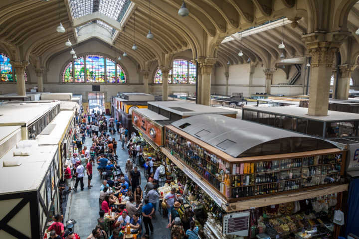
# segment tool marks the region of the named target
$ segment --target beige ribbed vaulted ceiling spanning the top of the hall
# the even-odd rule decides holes
[[[193,59],[215,57],[221,64],[250,59],[273,65],[282,53],[286,58],[307,56],[301,35],[318,26],[327,31],[339,25],[352,32],[357,29],[359,4],[355,0],[337,0],[339,5],[336,0],[326,1],[333,5],[338,26],[323,25],[325,20],[316,16],[320,9],[313,1],[323,0],[185,0],[190,14],[181,17],[182,0],[151,0],[151,11],[149,0],[2,0],[0,46],[14,60],[39,59],[43,65],[68,48],[67,39],[76,46],[93,37],[126,51],[141,69],[151,61],[167,65],[173,54],[187,49],[192,50]],[[348,13],[347,24],[343,19]],[[293,21],[284,28],[284,50],[278,49],[281,26],[238,37],[238,32],[282,17]],[[65,33],[56,32],[60,22]],[[146,38],[150,28],[155,35],[152,40]],[[231,35],[233,39],[223,41]],[[132,50],[134,38],[136,51]],[[352,38],[359,41],[357,35]],[[239,50],[243,56],[238,56]]]

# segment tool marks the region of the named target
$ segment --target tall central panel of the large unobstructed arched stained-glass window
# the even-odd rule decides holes
[[[105,82],[105,63],[104,57],[98,55],[86,56],[87,82]]]

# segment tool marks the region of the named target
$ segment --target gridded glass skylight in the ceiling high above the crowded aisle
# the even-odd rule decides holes
[[[75,18],[98,11],[114,20],[121,21],[130,3],[131,0],[71,0],[71,7]],[[96,22],[108,29],[111,34],[115,32],[114,28],[105,22],[100,20]]]

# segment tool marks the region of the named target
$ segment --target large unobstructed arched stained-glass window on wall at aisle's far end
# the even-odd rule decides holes
[[[75,80],[73,80],[75,79]],[[85,55],[68,62],[62,72],[64,83],[126,83],[123,68],[114,59]]]

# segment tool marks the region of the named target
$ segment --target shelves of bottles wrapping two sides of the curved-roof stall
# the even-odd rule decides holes
[[[227,199],[267,195],[338,182],[342,153],[229,163],[166,128],[165,147]]]

